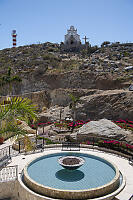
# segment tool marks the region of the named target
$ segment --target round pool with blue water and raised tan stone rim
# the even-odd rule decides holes
[[[58,159],[77,156],[85,160],[76,170],[64,169]],[[109,161],[90,154],[61,152],[39,157],[24,168],[24,182],[33,191],[61,199],[101,197],[119,187],[120,173]]]

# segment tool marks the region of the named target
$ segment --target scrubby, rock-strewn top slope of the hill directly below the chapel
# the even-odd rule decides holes
[[[44,43],[20,46],[0,51],[0,73],[6,73],[8,67],[16,73],[53,73],[84,70],[92,72],[118,72],[127,74],[124,70],[133,65],[133,43],[98,47],[88,47],[80,53],[65,53],[59,44]],[[115,74],[114,74],[115,76]]]

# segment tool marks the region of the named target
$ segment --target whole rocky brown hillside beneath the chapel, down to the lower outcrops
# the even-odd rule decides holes
[[[45,43],[0,51],[0,95],[22,95],[39,106],[67,106],[80,97],[77,118],[133,118],[133,44],[111,44],[94,53],[64,53]],[[11,67],[11,74],[8,74]],[[18,76],[21,81],[12,80]],[[2,99],[3,97],[1,97]]]

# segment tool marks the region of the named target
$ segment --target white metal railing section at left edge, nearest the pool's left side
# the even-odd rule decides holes
[[[0,182],[13,181],[18,178],[18,165],[7,166],[0,170]]]

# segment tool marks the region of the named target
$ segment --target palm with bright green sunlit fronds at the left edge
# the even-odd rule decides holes
[[[19,136],[26,134],[26,131],[20,128],[17,120],[24,120],[28,123],[30,120],[37,120],[36,106],[28,98],[11,97],[8,104],[0,104],[0,136],[6,136],[9,133]]]

